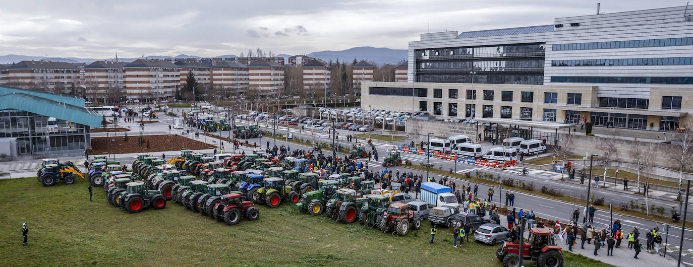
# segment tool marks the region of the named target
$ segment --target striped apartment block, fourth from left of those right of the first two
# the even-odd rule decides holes
[[[248,65],[250,88],[258,89],[262,97],[273,97],[284,88],[284,66],[277,62],[258,60]]]

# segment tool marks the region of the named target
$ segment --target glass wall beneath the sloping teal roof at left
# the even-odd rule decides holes
[[[17,138],[19,154],[83,151],[91,144],[88,132],[88,127],[66,120],[49,125],[46,116],[15,109],[0,111],[0,138]]]

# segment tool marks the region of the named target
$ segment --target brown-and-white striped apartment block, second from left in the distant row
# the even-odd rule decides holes
[[[82,68],[85,96],[94,103],[125,100],[125,65],[129,62],[96,61]]]

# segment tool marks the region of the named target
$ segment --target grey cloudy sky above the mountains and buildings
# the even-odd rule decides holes
[[[597,1],[3,1],[0,55],[107,58],[404,49],[420,33],[552,24]],[[601,12],[682,6],[609,0]],[[430,26],[429,26],[430,24]]]

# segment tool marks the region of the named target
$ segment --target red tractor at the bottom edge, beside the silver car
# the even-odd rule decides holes
[[[529,229],[529,243],[523,243],[523,260],[536,261],[538,267],[561,267],[563,255],[561,247],[556,246],[553,232],[549,228]],[[495,250],[495,257],[503,261],[505,267],[520,266],[520,243],[505,242]]]

